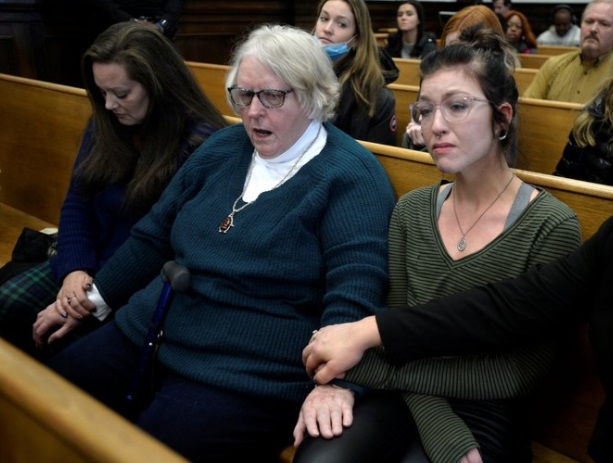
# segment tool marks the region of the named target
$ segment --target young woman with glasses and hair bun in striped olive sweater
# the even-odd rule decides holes
[[[508,165],[518,91],[504,54],[515,52],[490,29],[474,37],[466,32],[460,43],[422,60],[416,118],[437,167],[455,181],[398,201],[389,232],[391,309],[518,275],[581,243],[576,214],[521,182]],[[356,398],[351,421],[351,393],[319,385],[301,411],[294,462],[529,463],[525,396],[555,353],[554,343],[535,343],[406,369],[381,355],[369,357],[337,385],[392,392]],[[396,391],[403,391],[408,407]],[[301,443],[305,429],[324,438]]]

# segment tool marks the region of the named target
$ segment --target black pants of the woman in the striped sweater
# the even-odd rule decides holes
[[[484,463],[530,463],[529,423],[519,401],[449,401],[479,443]],[[307,437],[294,463],[429,463],[399,394],[374,392],[356,403],[351,427],[333,439]]]

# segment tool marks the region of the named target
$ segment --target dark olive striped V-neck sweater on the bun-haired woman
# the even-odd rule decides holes
[[[453,260],[437,227],[439,186],[403,196],[390,222],[391,308],[423,304],[474,286],[512,277],[565,255],[581,244],[575,213],[539,191],[518,218],[481,251]],[[446,398],[497,400],[530,393],[549,369],[556,346],[444,357],[392,366],[382,350],[368,351],[346,379],[402,390],[433,463],[455,463],[476,447],[472,433]]]

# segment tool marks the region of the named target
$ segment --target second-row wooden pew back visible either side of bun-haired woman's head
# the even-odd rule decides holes
[[[417,100],[419,87],[389,84],[396,97],[398,145],[409,123],[409,104]],[[517,167],[550,174],[554,171],[573,122],[583,105],[520,97],[518,113]]]

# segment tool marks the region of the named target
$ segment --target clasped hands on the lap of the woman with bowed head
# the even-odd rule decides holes
[[[69,273],[64,278],[56,300],[39,312],[32,326],[32,337],[37,347],[43,348],[64,337],[91,315],[96,309],[87,297],[92,283],[92,277],[83,271]]]

